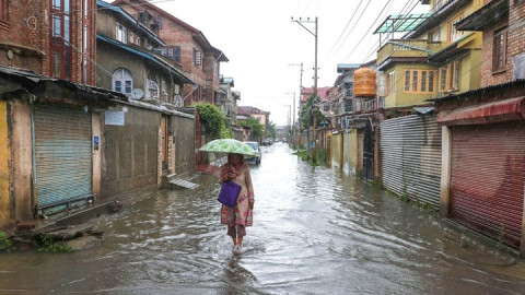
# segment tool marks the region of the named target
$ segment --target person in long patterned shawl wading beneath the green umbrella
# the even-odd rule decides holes
[[[254,186],[249,166],[241,154],[228,154],[228,162],[221,167],[219,175],[221,184],[231,179],[241,186],[237,203],[234,208],[222,205],[221,224],[228,225],[226,235],[233,239],[233,253],[242,252],[243,237],[246,235],[246,226],[253,225],[254,217]]]

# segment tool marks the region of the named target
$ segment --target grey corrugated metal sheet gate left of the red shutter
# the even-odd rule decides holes
[[[381,125],[383,186],[411,200],[440,206],[441,127],[435,116],[411,115]]]

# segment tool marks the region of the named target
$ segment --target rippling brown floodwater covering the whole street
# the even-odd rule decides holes
[[[438,214],[262,148],[244,252],[219,185],[159,191],[93,220],[101,246],[0,255],[0,294],[524,294],[525,266]]]

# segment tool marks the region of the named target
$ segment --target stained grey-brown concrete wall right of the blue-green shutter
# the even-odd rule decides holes
[[[125,111],[125,125],[102,127],[104,198],[158,184],[161,114],[129,105],[112,110]]]

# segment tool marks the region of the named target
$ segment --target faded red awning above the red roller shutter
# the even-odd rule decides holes
[[[440,125],[481,125],[525,119],[525,96],[486,103],[477,106],[443,110],[438,114]]]

